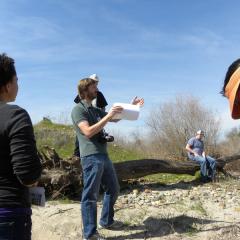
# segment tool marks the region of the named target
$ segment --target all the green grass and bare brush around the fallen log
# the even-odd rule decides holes
[[[194,97],[178,96],[172,101],[155,106],[146,119],[146,129],[149,132],[147,136],[142,136],[139,132],[129,133],[133,136],[131,141],[127,141],[124,136],[115,136],[116,140],[108,146],[110,159],[113,162],[144,158],[182,161],[186,159],[186,142],[198,129],[206,131],[207,153],[219,156],[240,151],[240,128],[233,128],[225,139],[219,142],[219,119],[215,118],[211,110],[201,106]],[[72,157],[76,138],[72,125],[53,123],[49,118],[44,118],[34,126],[34,130],[38,149],[48,145],[53,147],[61,158]],[[145,180],[172,182],[172,178],[192,180],[194,177],[157,174],[148,176]]]

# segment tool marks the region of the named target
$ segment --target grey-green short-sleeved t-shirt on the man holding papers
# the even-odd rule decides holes
[[[82,100],[73,108],[72,121],[77,133],[80,157],[85,157],[96,153],[107,153],[107,144],[99,142],[99,134],[96,134],[89,139],[78,127],[78,124],[81,121],[88,121],[89,125],[92,126],[102,119],[106,114],[106,112],[89,105],[84,100]]]

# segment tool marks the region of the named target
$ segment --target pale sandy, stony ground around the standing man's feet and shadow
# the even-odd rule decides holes
[[[115,212],[124,227],[101,230],[106,239],[240,240],[240,181],[144,184],[123,191]],[[82,239],[79,202],[33,207],[32,219],[33,240]]]

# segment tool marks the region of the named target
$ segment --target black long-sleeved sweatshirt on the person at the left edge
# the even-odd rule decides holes
[[[0,102],[0,208],[30,207],[28,187],[41,175],[28,113]]]

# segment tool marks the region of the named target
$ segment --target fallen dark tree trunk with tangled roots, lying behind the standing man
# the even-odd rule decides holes
[[[43,173],[39,184],[45,187],[52,199],[62,196],[79,196],[82,189],[82,169],[79,159],[60,159],[53,148],[45,146],[39,152]],[[227,174],[224,167],[227,163],[240,159],[240,155],[217,159],[217,169]],[[120,182],[138,179],[155,173],[175,173],[194,175],[199,165],[193,161],[170,161],[160,159],[140,159],[114,163]]]

